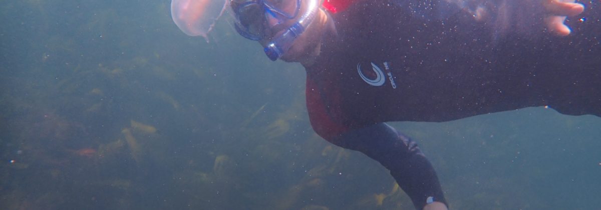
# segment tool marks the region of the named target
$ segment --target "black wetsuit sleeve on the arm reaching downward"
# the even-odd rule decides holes
[[[413,140],[389,125],[379,123],[349,131],[330,142],[362,152],[390,170],[416,209],[423,209],[432,199],[447,205],[430,161]]]

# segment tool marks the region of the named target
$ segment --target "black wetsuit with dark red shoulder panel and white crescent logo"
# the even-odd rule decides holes
[[[469,12],[478,5],[436,1],[374,0],[332,14],[338,36],[326,35],[306,67],[311,125],[391,170],[422,209],[429,197],[445,202],[436,173],[414,142],[383,122],[532,106],[601,116],[599,2],[586,5],[585,19],[571,19],[569,37],[545,32],[540,1],[532,2],[481,4],[481,21]]]

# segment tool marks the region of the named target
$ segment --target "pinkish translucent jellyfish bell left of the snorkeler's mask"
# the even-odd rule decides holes
[[[207,42],[207,34],[224,13],[225,0],[172,0],[171,18],[185,34],[202,36]]]

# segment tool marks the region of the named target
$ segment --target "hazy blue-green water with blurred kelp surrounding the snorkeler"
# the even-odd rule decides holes
[[[413,209],[388,171],[321,139],[305,72],[170,1],[3,1],[0,209]],[[601,118],[543,107],[394,122],[451,209],[601,209]]]

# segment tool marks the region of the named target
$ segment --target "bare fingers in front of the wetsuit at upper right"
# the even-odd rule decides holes
[[[543,7],[549,13],[545,25],[552,33],[567,36],[572,30],[564,24],[567,16],[576,16],[584,11],[584,5],[575,0],[543,0]]]

